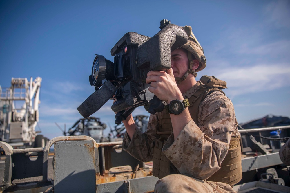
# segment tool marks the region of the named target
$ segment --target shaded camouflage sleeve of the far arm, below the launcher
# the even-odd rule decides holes
[[[122,148],[140,161],[152,161],[154,141],[156,138],[155,127],[157,125],[157,115],[150,115],[147,131],[142,133],[138,128],[136,128],[131,140],[126,132]]]

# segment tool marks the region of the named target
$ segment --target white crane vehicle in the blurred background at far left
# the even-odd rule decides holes
[[[48,139],[35,131],[41,78],[12,78],[11,87],[0,86],[0,138],[12,147],[44,147]]]

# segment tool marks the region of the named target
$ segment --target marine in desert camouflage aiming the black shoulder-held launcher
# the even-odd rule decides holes
[[[146,79],[146,82],[151,82],[149,91],[167,104],[176,98],[191,101],[192,96],[202,87],[202,83],[195,80],[195,72],[202,70],[206,65],[202,47],[191,32],[190,26],[183,29],[189,34],[189,41],[171,53],[172,68],[167,73],[151,71]],[[175,55],[185,59],[182,52],[187,56],[186,50],[190,53],[188,58],[186,57],[189,70],[180,77],[178,75],[182,68],[176,66],[182,65],[182,61],[180,58],[176,59]],[[191,54],[194,56],[192,59],[192,56],[189,56]],[[193,62],[190,62],[191,60]],[[166,89],[169,90],[168,93]],[[145,133],[136,128],[132,116],[123,123],[127,129],[123,149],[141,161],[153,160],[153,175],[161,178],[155,185],[155,192],[235,192],[229,184],[206,181],[209,177],[216,178],[213,178],[213,174],[221,168],[229,146],[233,144],[230,144],[231,138],[239,136],[233,104],[222,91],[209,93],[197,105],[190,102],[189,108],[179,115],[169,114],[166,109],[150,115]],[[171,131],[163,135],[164,128],[164,132],[167,132],[168,128],[171,128]],[[160,152],[156,150],[158,144],[162,144]],[[239,145],[236,141],[235,146]],[[161,154],[161,157],[158,154]],[[158,156],[160,158],[157,161],[161,160],[160,164],[154,166]],[[166,162],[167,166],[164,165]],[[168,172],[162,172],[162,168]],[[241,176],[238,176],[230,181],[240,179]]]

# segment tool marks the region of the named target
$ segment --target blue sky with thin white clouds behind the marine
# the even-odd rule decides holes
[[[95,54],[127,32],[154,36],[160,20],[193,28],[207,67],[198,73],[227,82],[239,123],[267,114],[290,116],[290,1],[0,1],[0,85],[42,78],[39,126],[71,127],[77,107],[94,92],[88,82]],[[97,113],[115,126],[109,100]],[[138,107],[133,115],[149,115]],[[105,133],[108,133],[107,128]]]

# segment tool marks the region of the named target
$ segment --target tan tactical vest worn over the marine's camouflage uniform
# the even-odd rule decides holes
[[[198,89],[191,97],[189,97],[189,112],[193,121],[198,125],[198,109],[200,102],[206,96],[214,91],[221,91],[226,88],[226,82],[215,78],[214,76],[202,76],[199,81],[200,89]],[[224,94],[224,92],[222,92]],[[163,178],[169,174],[176,174],[180,172],[168,160],[162,152],[162,148],[172,133],[172,124],[170,114],[164,109],[157,113],[159,119],[159,126],[155,128],[155,133],[160,136],[155,141],[153,149],[153,169],[152,174],[158,178]],[[229,145],[229,150],[226,157],[221,163],[221,168],[215,172],[208,181],[223,182],[229,185],[234,185],[242,179],[242,164],[241,164],[241,146],[240,137],[232,137]]]

